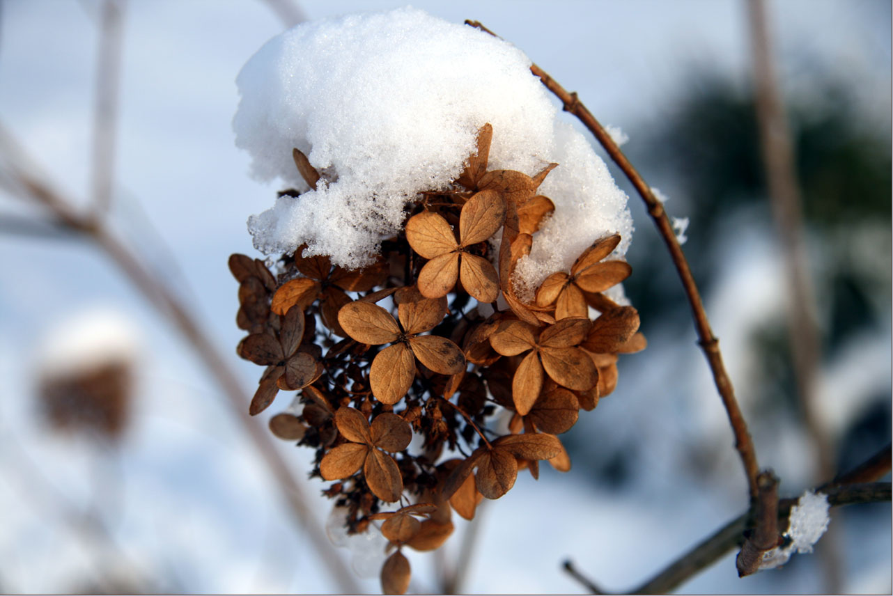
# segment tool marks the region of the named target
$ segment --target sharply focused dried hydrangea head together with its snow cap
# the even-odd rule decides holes
[[[335,36],[346,54],[319,49]],[[330,54],[337,69],[315,76]],[[238,353],[266,367],[250,412],[298,392],[271,430],[315,450],[348,532],[388,541],[388,593],[408,587],[404,550],[437,549],[453,511],[471,519],[540,461],[569,470],[557,435],[613,390],[617,354],[645,346],[616,290],[626,197],[528,65],[402,9],[292,29],[239,77],[238,144],[294,186],[249,222],[275,275],[230,258]],[[475,94],[470,72],[488,80]],[[271,81],[275,101],[253,87]]]

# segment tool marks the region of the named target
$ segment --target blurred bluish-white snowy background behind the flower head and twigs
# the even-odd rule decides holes
[[[246,218],[266,209],[278,188],[248,177],[249,158],[236,149],[230,121],[238,70],[283,29],[271,10],[279,4],[130,0],[124,12],[113,225],[141,260],[163,272],[221,352],[231,355],[246,390],[245,412],[238,415],[246,415],[260,370],[234,353],[240,337],[237,286],[226,259],[231,252],[254,254]],[[311,19],[396,5],[299,3]],[[85,204],[98,6],[93,0],[0,4],[0,124],[55,187]],[[709,220],[711,228],[698,228],[707,210],[687,200],[693,186],[667,165],[660,150],[672,145],[655,133],[681,112],[687,97],[705,89],[709,79],[695,73],[721,77],[733,90],[747,87],[744,5],[643,0],[415,6],[447,21],[483,22],[578,91],[599,120],[630,136],[624,149],[634,161],[641,156],[649,183],[670,196],[671,214],[691,217],[687,248],[710,261],[702,265],[710,279],[707,311],[753,419],[761,464],[782,477],[785,496],[801,493],[813,483],[814,459],[797,418],[766,402],[771,362],[755,346],[772,342],[754,340],[784,313],[771,221],[753,203],[730,200],[711,208],[724,214]],[[817,278],[839,261],[839,241],[847,246],[849,269],[873,280],[855,284],[850,293],[862,296],[851,310],[872,316],[828,340],[833,350],[822,363],[818,397],[839,462],[853,465],[889,441],[889,3],[770,6],[785,93],[807,107],[822,104],[816,108],[821,112],[825,104],[835,105],[825,83],[834,81],[846,90],[847,105],[855,106],[853,127],[880,137],[886,152],[880,211],[858,211],[867,192],[859,187],[844,202],[858,211],[861,219],[852,219],[850,227],[858,233],[841,239],[829,236],[834,230],[839,235],[838,228],[816,226],[810,236]],[[701,115],[709,121],[710,114]],[[724,139],[721,131],[717,142],[734,145],[733,132]],[[709,163],[717,151],[693,157],[689,169],[697,170],[697,159]],[[631,196],[630,205],[638,228],[629,253],[633,278],[665,271],[669,261],[653,248],[655,234],[638,197]],[[847,212],[824,217],[848,220]],[[21,221],[39,220],[41,213],[0,194],[0,591],[336,591],[201,362],[88,242],[26,233]],[[697,236],[713,242],[697,244]],[[468,591],[581,592],[560,568],[565,558],[605,589],[628,590],[746,506],[725,414],[688,313],[673,309],[680,300],[678,282],[665,272],[647,278],[669,280],[629,288],[637,306],[635,296],[643,296],[649,348],[625,359],[617,391],[573,429],[575,468],[569,474],[544,472],[538,483],[522,475],[511,493],[480,510]],[[836,287],[819,289],[838,295]],[[833,310],[828,304],[820,305]],[[46,345],[85,311],[127,319],[138,345],[135,411],[113,450],[48,429],[34,400]],[[660,319],[648,319],[647,312]],[[269,415],[259,418],[256,423],[265,425]],[[303,477],[306,450],[288,443],[280,448]],[[305,492],[308,506],[325,519],[330,501],[317,497],[321,487],[313,481]],[[87,510],[102,512],[111,539],[83,530]],[[889,504],[834,511],[832,531],[835,526],[841,589],[889,593]],[[459,542],[455,535],[447,545],[447,565],[454,563]],[[364,589],[375,592],[371,550],[353,544],[343,554],[365,573]],[[413,553],[412,590],[438,590],[437,559]],[[796,555],[781,570],[745,580],[736,577],[730,555],[682,591],[810,593],[822,592],[822,581],[818,555]]]

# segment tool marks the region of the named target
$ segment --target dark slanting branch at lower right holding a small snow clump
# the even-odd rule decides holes
[[[839,507],[841,505],[854,505],[858,503],[870,503],[890,500],[890,483],[872,483],[864,482],[865,478],[879,478],[888,474],[890,471],[890,445],[878,451],[877,454],[868,459],[864,464],[855,468],[846,475],[839,476],[839,479],[832,483],[822,484],[815,489],[816,493],[824,493],[828,496],[828,502],[831,507]],[[886,469],[884,462],[886,461]],[[870,472],[865,472],[870,470]],[[847,484],[847,479],[854,482]],[[797,504],[797,499],[781,499],[778,501],[778,518],[779,526],[787,528],[789,525],[788,518],[790,516],[790,508]],[[687,582],[691,577],[697,575],[707,567],[713,565],[717,560],[722,559],[730,550],[735,549],[744,542],[744,533],[747,530],[749,519],[751,517],[750,510],[732,519],[728,524],[722,526],[719,530],[711,534],[703,541],[699,542],[694,548],[683,553],[679,558],[674,560],[669,566],[664,567],[661,572],[641,584],[638,588],[627,593],[633,594],[667,594],[678,588],[681,584]],[[568,561],[569,563],[570,561]],[[565,563],[565,568],[567,564]],[[571,567],[572,564],[571,564]],[[580,571],[574,569],[574,577],[583,577]],[[584,587],[591,593],[606,593],[597,588],[597,585],[583,577],[585,580]],[[597,591],[592,591],[594,587]]]

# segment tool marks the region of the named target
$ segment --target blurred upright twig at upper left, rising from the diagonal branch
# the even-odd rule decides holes
[[[121,14],[124,0],[105,0],[96,56],[96,98],[93,112],[93,204],[96,218],[112,204],[115,132],[121,81]]]

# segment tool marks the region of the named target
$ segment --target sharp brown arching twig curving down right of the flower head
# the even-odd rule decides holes
[[[480,22],[465,21],[465,23],[486,31],[490,35],[496,36],[495,33],[481,25]],[[722,363],[722,352],[720,352],[719,340],[716,339],[713,330],[710,328],[710,322],[707,320],[707,314],[704,310],[704,303],[701,301],[701,295],[697,291],[697,285],[695,284],[695,278],[691,274],[689,262],[686,261],[685,254],[682,253],[679,240],[677,240],[676,234],[673,232],[670,218],[667,216],[666,211],[663,210],[663,203],[657,199],[655,194],[651,191],[651,187],[646,184],[645,179],[638,173],[638,170],[636,170],[630,161],[626,159],[626,156],[623,155],[620,147],[614,143],[611,136],[605,131],[605,128],[602,128],[602,125],[598,123],[595,116],[593,116],[586,109],[586,106],[580,102],[576,93],[568,93],[564,87],[555,82],[555,79],[552,79],[536,64],[530,65],[530,72],[539,77],[539,79],[542,80],[543,85],[561,100],[565,112],[571,112],[593,135],[595,135],[598,142],[605,148],[605,152],[607,152],[614,163],[623,170],[626,177],[630,179],[632,186],[635,186],[638,194],[641,195],[642,200],[645,201],[648,214],[651,216],[651,219],[654,220],[658,233],[663,237],[663,242],[667,245],[667,249],[670,251],[672,262],[676,267],[676,271],[679,273],[682,286],[685,289],[685,294],[689,298],[692,316],[695,319],[695,329],[699,340],[698,344],[700,344],[701,349],[704,350],[707,363],[710,365],[710,370],[713,372],[716,389],[722,398],[722,405],[725,407],[729,416],[732,432],[735,435],[735,448],[739,452],[741,464],[744,467],[745,476],[747,476],[747,486],[750,492],[751,501],[754,501],[759,492],[756,486],[756,476],[759,472],[759,465],[756,461],[754,442],[750,438],[750,432],[747,430],[747,422],[744,419],[744,415],[741,413],[738,400],[735,399],[735,389],[731,384],[731,379],[726,372],[725,365]]]

